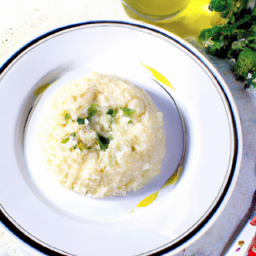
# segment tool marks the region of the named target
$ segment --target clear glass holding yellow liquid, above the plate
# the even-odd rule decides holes
[[[152,22],[172,19],[188,4],[189,0],[121,0],[126,12]]]

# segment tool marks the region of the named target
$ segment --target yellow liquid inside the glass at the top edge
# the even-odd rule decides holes
[[[163,17],[178,12],[189,0],[123,0],[145,16]]]

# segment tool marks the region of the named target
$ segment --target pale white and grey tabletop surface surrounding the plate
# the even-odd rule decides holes
[[[36,37],[66,25],[89,20],[123,20],[129,18],[120,0],[9,0],[0,9],[0,66],[10,56]],[[185,38],[205,52],[195,38]],[[207,56],[225,78],[236,101],[243,129],[242,165],[233,195],[214,225],[194,244],[186,248],[185,256],[225,255],[255,209],[256,189],[256,97],[234,80],[229,64]],[[189,210],[189,209],[188,209]],[[256,232],[256,227],[255,227]],[[3,225],[0,225],[0,255],[43,255],[31,248]],[[181,254],[182,255],[182,254]]]

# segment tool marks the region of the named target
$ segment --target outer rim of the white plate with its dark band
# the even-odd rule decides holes
[[[234,136],[234,152],[233,152],[233,161],[232,161],[232,167],[230,170],[230,173],[228,175],[228,179],[226,182],[226,185],[224,189],[222,190],[222,193],[216,202],[216,205],[210,210],[207,216],[202,216],[202,220],[198,220],[196,223],[200,221],[200,224],[194,228],[191,232],[188,232],[185,236],[180,237],[182,238],[176,238],[173,244],[169,245],[163,245],[162,247],[156,248],[150,252],[143,253],[142,255],[163,255],[168,253],[168,255],[175,255],[179,251],[182,251],[187,246],[195,242],[199,237],[201,237],[213,224],[213,222],[220,216],[221,212],[227,205],[227,202],[229,201],[232,192],[234,190],[234,186],[237,181],[240,165],[241,165],[241,159],[242,159],[242,127],[241,127],[241,121],[240,116],[237,110],[236,103],[232,97],[232,94],[224,80],[224,78],[220,75],[220,73],[217,71],[217,69],[210,63],[210,61],[204,57],[198,50],[196,50],[193,46],[185,42],[183,39],[179,38],[178,36],[168,32],[167,30],[158,28],[156,26],[146,24],[143,22],[137,22],[137,23],[131,23],[131,22],[124,22],[124,21],[115,21],[115,20],[96,20],[96,21],[88,21],[83,23],[77,23],[77,24],[71,24],[68,26],[60,27],[54,30],[51,30],[36,39],[30,41],[28,44],[20,48],[18,51],[16,51],[1,67],[0,67],[0,81],[5,76],[5,74],[9,71],[9,69],[28,51],[32,50],[34,47],[38,46],[39,44],[51,39],[52,37],[58,36],[63,33],[67,33],[72,30],[91,27],[88,25],[97,25],[98,26],[118,26],[118,27],[127,27],[131,29],[145,29],[147,30],[148,34],[151,34],[150,32],[153,32],[154,34],[160,34],[163,37],[167,37],[169,40],[174,41],[179,48],[183,48],[184,52],[189,52],[190,55],[193,56],[197,64],[200,65],[202,69],[208,74],[211,74],[211,76],[214,78],[215,82],[217,82],[223,96],[226,99],[226,103],[228,105],[228,110],[230,112],[231,116],[231,122],[233,128],[233,136]],[[92,26],[93,27],[93,26]],[[141,31],[141,30],[140,30]],[[146,33],[145,31],[141,31]],[[191,56],[190,56],[191,57]],[[210,78],[211,78],[210,76]],[[212,78],[211,78],[212,79]],[[217,86],[216,86],[217,87]],[[222,99],[223,100],[223,99]],[[226,109],[226,111],[228,111]],[[232,152],[230,154],[232,156]],[[208,212],[208,211],[207,211]],[[207,213],[206,212],[206,213]],[[45,253],[47,255],[73,255],[70,253],[66,253],[64,251],[61,251],[57,248],[54,248],[41,240],[37,239],[36,237],[32,236],[30,233],[28,233],[25,229],[23,229],[12,217],[9,216],[9,214],[5,211],[5,209],[2,207],[0,203],[0,221],[2,224],[9,229],[10,232],[12,232],[18,239],[22,240],[29,246],[32,246],[36,250]],[[196,224],[195,223],[195,224]],[[195,226],[195,225],[194,225]],[[193,226],[192,226],[193,227]],[[192,228],[191,227],[191,228]],[[191,229],[190,228],[190,229]],[[189,230],[190,230],[189,229]],[[187,232],[185,232],[187,233]],[[162,248],[162,249],[161,249]]]

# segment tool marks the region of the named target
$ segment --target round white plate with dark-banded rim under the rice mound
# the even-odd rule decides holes
[[[160,87],[140,62],[161,72],[175,90]],[[47,98],[88,70],[133,81],[164,114],[161,174],[126,197],[76,194],[48,177],[42,163],[38,125]],[[239,114],[218,72],[178,37],[153,26],[78,24],[31,42],[1,72],[0,218],[31,246],[49,255],[173,255],[201,236],[227,204],[241,161]],[[58,77],[41,98],[34,94]],[[185,135],[168,93],[182,112]],[[136,207],[175,171],[184,137],[178,183],[160,190],[150,205]]]

